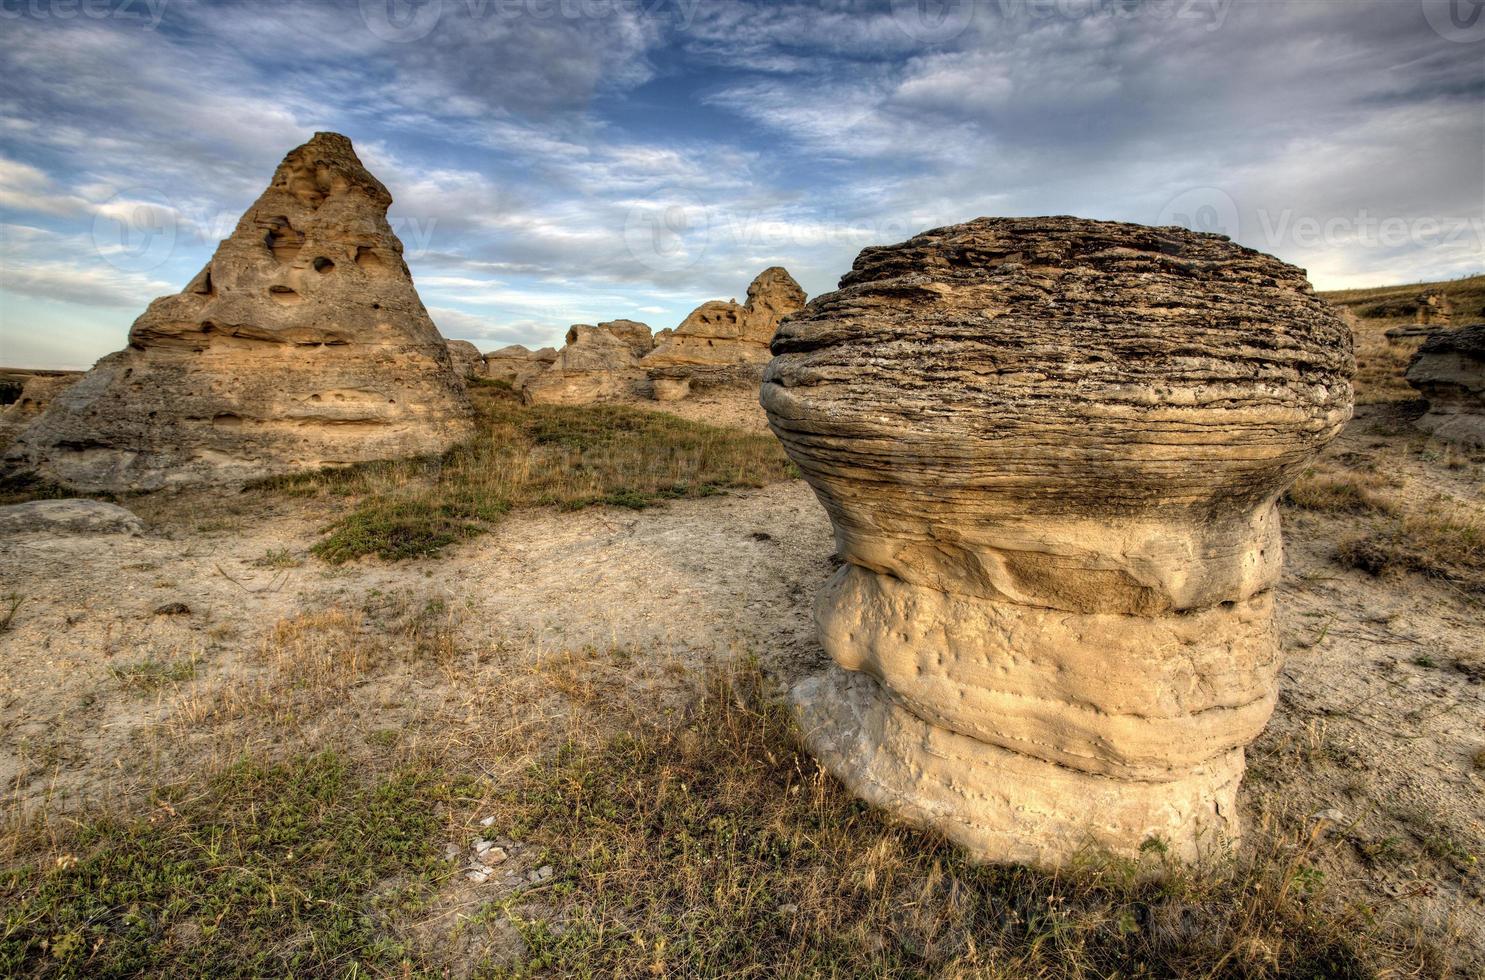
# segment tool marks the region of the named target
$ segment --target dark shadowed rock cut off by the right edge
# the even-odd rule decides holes
[[[1408,364],[1408,383],[1429,399],[1420,429],[1485,447],[1485,324],[1432,334]]]

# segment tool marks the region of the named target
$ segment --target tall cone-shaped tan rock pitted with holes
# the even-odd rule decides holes
[[[83,490],[241,483],[437,453],[472,431],[392,196],[350,141],[293,150],[211,263],[134,322],[9,460]]]

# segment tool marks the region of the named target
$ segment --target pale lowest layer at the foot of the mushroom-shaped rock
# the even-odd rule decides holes
[[[805,745],[848,790],[976,860],[1057,867],[1158,840],[1194,861],[1238,834],[1241,748],[1169,781],[1112,780],[930,725],[839,667],[792,698]]]

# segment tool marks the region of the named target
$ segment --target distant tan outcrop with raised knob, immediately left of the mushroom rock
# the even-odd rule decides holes
[[[768,364],[768,342],[778,321],[805,304],[805,291],[783,267],[765,269],[747,288],[747,301],[702,303],[658,340],[643,367],[650,379],[683,380],[691,388],[757,383]],[[664,331],[661,331],[664,333]],[[674,396],[679,386],[658,391]]]

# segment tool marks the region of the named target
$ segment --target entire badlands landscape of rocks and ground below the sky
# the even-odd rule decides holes
[[[0,971],[1485,970],[1485,278],[979,218],[481,352],[389,203],[4,374]]]

